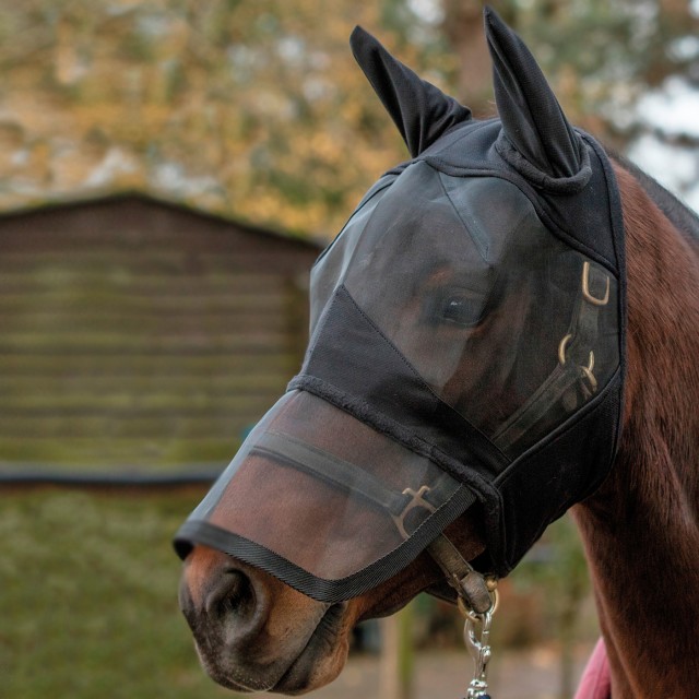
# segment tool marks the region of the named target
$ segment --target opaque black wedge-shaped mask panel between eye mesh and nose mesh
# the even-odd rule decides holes
[[[347,347],[354,351],[347,353]],[[511,462],[425,383],[344,286],[337,288],[323,312],[301,372],[288,384],[287,390],[292,389],[308,390],[379,431],[389,434],[386,426],[390,422],[393,436],[398,437],[398,428],[399,441],[414,451],[420,453],[422,449],[424,453],[425,445],[429,445],[457,461],[473,464],[476,471],[483,469],[482,475],[487,478]],[[377,419],[382,426],[376,426]],[[458,478],[463,477],[462,471]]]

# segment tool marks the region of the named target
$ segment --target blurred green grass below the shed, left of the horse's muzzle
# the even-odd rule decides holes
[[[0,495],[4,699],[232,697],[199,667],[170,537],[203,491]]]

